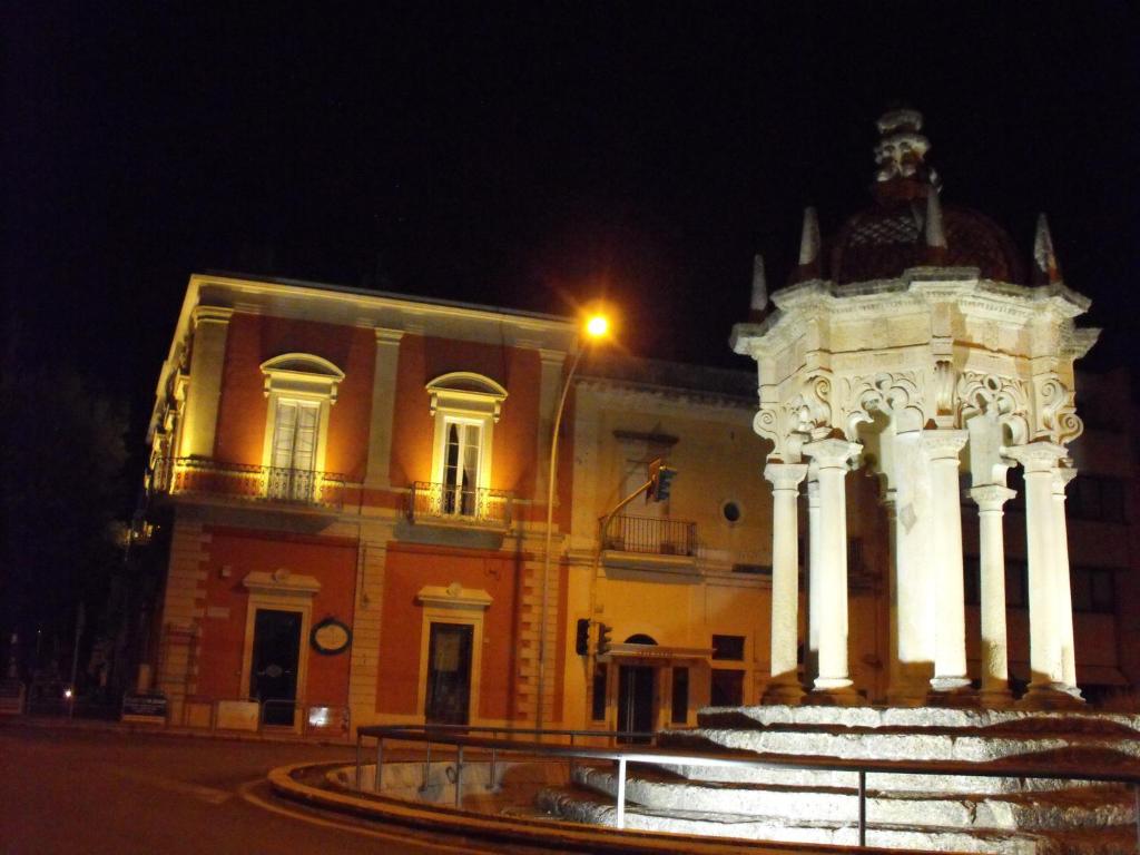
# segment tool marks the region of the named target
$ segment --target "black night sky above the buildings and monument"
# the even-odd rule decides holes
[[[805,204],[826,235],[868,203],[895,101],[947,202],[1026,254],[1049,212],[1097,363],[1129,359],[1135,5],[310,6],[5,13],[17,369],[98,370],[140,434],[204,269],[552,312],[605,292],[635,352],[747,367],[752,253],[783,284]]]

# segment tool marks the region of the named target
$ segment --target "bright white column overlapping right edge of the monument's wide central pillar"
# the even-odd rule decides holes
[[[934,626],[935,692],[958,692],[970,685],[966,669],[966,592],[962,585],[962,506],[958,488],[958,455],[966,431],[922,431],[930,462],[930,595],[936,603]]]

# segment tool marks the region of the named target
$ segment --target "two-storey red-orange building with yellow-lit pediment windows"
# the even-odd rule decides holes
[[[544,464],[575,334],[193,277],[150,431],[170,556],[153,659],[172,720],[535,716]],[[561,678],[546,683],[553,708]]]

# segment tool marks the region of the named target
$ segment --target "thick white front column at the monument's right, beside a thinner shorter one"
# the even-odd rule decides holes
[[[1029,690],[1020,705],[1032,708],[1072,706],[1061,666],[1062,621],[1057,596],[1057,513],[1053,478],[1065,449],[1052,442],[1008,448],[1025,470],[1025,529],[1029,561]],[[1067,573],[1066,573],[1067,576]],[[1072,611],[1072,610],[1070,610]],[[1072,614],[1070,614],[1072,619]]]

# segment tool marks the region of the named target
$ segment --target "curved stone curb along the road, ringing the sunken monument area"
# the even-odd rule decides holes
[[[905,849],[849,847],[829,844],[791,844],[741,838],[707,838],[691,834],[671,834],[660,831],[618,831],[601,825],[580,825],[556,820],[526,820],[521,817],[475,814],[469,811],[435,805],[417,805],[383,796],[355,796],[349,792],[310,787],[294,779],[299,772],[341,767],[340,763],[296,763],[272,769],[269,784],[283,798],[310,807],[380,822],[396,823],[435,833],[463,834],[507,844],[528,844],[556,849],[589,853],[653,853],[676,855],[733,855],[748,852],[755,855],[804,855],[805,853],[872,853],[905,855]]]

